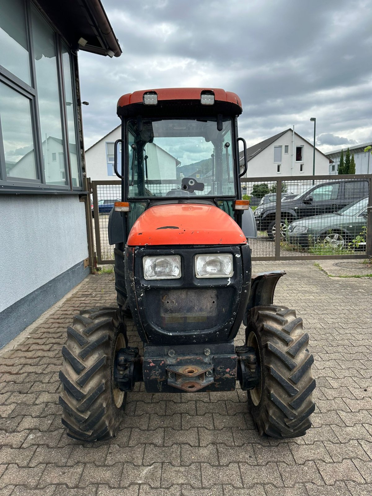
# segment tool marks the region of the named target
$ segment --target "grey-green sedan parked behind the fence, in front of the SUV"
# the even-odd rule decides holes
[[[323,242],[334,248],[348,248],[367,226],[368,197],[357,200],[333,214],[315,215],[292,222],[286,240],[293,245],[309,247]],[[366,245],[366,238],[354,245]]]

